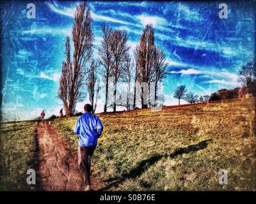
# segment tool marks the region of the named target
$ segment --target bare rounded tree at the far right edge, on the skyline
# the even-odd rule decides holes
[[[239,71],[239,82],[243,82],[244,85],[249,86],[252,85],[256,80],[255,75],[255,66],[253,66],[252,62],[248,62],[246,65],[242,66]]]

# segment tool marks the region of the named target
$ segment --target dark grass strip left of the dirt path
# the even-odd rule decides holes
[[[7,122],[0,128],[0,191],[29,191],[27,170],[35,161],[35,122]]]

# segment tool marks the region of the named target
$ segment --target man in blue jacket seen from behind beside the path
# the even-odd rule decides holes
[[[90,166],[91,157],[97,146],[97,140],[100,137],[103,126],[96,115],[92,114],[92,105],[84,105],[84,113],[76,121],[74,133],[79,134],[78,146],[78,165],[83,179],[84,191],[91,190]]]

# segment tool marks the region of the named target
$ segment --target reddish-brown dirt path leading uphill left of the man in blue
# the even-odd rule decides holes
[[[38,190],[81,191],[81,176],[77,165],[77,154],[68,149],[58,132],[48,121],[39,122],[38,140]]]

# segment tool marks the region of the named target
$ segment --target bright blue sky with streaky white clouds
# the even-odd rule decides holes
[[[28,3],[36,5],[35,19],[26,17]],[[61,101],[56,96],[65,38],[71,35],[78,3],[17,1],[14,15],[2,25],[10,40],[3,38],[1,48],[11,49],[1,56],[3,120],[33,119],[42,110],[47,116],[58,114]],[[241,85],[237,82],[239,68],[255,61],[255,2],[228,1],[227,19],[218,17],[220,3],[88,1],[94,45],[100,43],[104,22],[127,30],[131,48],[138,43],[143,27],[154,25],[156,45],[165,51],[168,62],[163,80],[165,105],[177,104],[172,96],[177,85],[186,84],[199,95],[237,87]],[[103,99],[100,96],[97,112],[102,111]],[[77,105],[78,111],[85,102]]]

